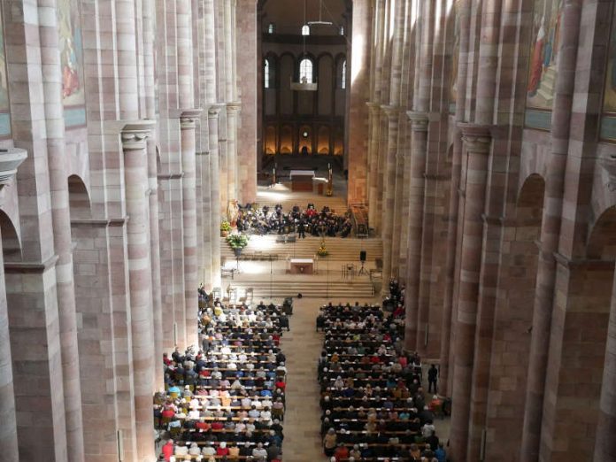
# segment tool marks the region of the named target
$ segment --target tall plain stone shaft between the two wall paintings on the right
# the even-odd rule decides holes
[[[577,5],[575,5],[577,4]],[[566,34],[560,35],[562,50],[558,55],[558,80],[554,90],[554,104],[551,127],[551,152],[545,177],[545,198],[540,250],[533,307],[533,332],[528,358],[527,396],[524,407],[524,426],[520,462],[534,462],[539,457],[541,428],[543,420],[543,394],[550,350],[552,306],[556,287],[557,266],[554,254],[558,252],[563,217],[566,164],[569,155],[575,79],[577,75],[577,53],[581,20],[579,2],[567,2],[563,10],[562,23]],[[583,107],[583,106],[581,106]],[[578,108],[577,111],[581,111]],[[578,114],[579,115],[579,114]],[[583,120],[579,119],[580,122]],[[576,142],[582,142],[581,139]]]

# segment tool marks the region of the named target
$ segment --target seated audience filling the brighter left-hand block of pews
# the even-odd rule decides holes
[[[279,462],[287,368],[281,306],[262,302],[199,309],[200,346],[164,354],[166,390],[154,397],[160,458]]]

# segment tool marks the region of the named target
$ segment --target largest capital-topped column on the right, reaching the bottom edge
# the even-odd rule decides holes
[[[475,124],[459,124],[466,150],[466,204],[462,224],[462,253],[458,293],[458,320],[454,350],[450,446],[456,460],[466,460],[481,245],[483,241],[483,212],[489,168],[489,128]]]

